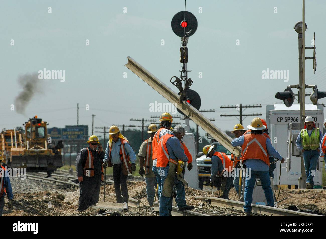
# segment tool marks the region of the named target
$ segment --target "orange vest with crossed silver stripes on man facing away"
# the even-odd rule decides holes
[[[243,161],[246,159],[260,159],[269,166],[266,136],[262,134],[244,134],[242,153]]]

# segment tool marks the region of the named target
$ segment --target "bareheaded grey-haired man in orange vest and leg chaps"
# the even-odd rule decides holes
[[[184,134],[181,133],[181,135],[183,136]],[[157,147],[156,165],[157,172],[159,172],[161,176],[159,215],[160,217],[168,217],[170,216],[170,211],[172,210],[173,185],[178,183],[175,182],[178,161],[181,160],[187,162],[188,159],[181,148],[180,140],[173,132],[170,132],[168,129],[163,129],[160,132],[159,137],[160,139]],[[176,200],[178,201],[179,198],[176,198]]]

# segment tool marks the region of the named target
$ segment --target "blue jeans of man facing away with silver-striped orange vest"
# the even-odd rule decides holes
[[[250,170],[250,179],[245,179],[244,188],[244,211],[251,212],[252,192],[256,183],[256,177],[261,181],[261,187],[264,190],[267,206],[274,207],[273,192],[271,189],[271,180],[269,178],[269,171],[255,171]]]

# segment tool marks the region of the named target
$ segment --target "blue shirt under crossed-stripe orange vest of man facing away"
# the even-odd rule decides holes
[[[244,144],[244,135],[240,136],[239,138],[235,138],[232,140],[232,146],[242,146]],[[272,146],[272,142],[269,138],[266,137],[266,149],[269,157],[273,157],[274,159],[282,160],[282,156],[275,150]],[[268,165],[259,159],[246,159],[244,164],[247,168],[255,171],[268,171]]]

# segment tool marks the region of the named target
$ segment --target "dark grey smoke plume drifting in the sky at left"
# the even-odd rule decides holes
[[[42,92],[40,89],[40,80],[37,73],[20,75],[17,78],[19,86],[22,88],[22,92],[15,98],[15,110],[24,115],[25,109],[33,96]]]

